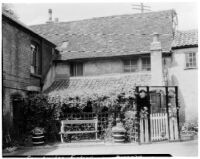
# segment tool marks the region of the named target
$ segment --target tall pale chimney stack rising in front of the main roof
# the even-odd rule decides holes
[[[159,41],[159,34],[153,33],[153,42],[150,46],[151,51],[151,85],[163,86],[163,68],[162,68],[162,47]]]

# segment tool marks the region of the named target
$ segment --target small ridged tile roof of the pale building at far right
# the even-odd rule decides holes
[[[197,30],[177,31],[175,34],[175,39],[172,44],[172,48],[181,48],[181,47],[197,46],[197,45],[198,45]]]

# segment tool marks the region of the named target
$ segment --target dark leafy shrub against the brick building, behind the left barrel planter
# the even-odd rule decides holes
[[[58,129],[59,104],[49,103],[48,96],[38,94],[26,99],[24,105],[25,133],[30,134],[35,127],[42,127],[48,141],[55,141]]]

